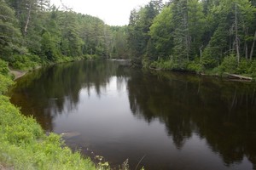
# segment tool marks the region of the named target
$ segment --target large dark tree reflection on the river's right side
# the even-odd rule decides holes
[[[134,71],[128,88],[134,115],[164,122],[178,149],[197,133],[227,166],[247,156],[256,168],[254,84]]]

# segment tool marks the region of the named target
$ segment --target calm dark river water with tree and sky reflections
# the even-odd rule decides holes
[[[140,71],[113,61],[54,65],[9,94],[73,150],[131,169],[256,169],[256,86]]]

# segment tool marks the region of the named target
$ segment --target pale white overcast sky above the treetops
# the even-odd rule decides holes
[[[145,5],[150,0],[62,0],[73,11],[99,17],[110,26],[124,26],[129,23],[133,8]],[[57,7],[61,0],[50,0]]]

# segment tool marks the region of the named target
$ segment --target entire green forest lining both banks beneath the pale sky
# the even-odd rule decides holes
[[[256,77],[255,0],[151,0],[131,10],[128,26],[108,26],[49,0],[0,3],[0,59],[16,69],[100,57]]]

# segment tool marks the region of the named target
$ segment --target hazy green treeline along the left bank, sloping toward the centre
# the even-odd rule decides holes
[[[126,56],[125,26],[63,8],[49,0],[0,0],[0,59],[22,69],[76,57]]]

